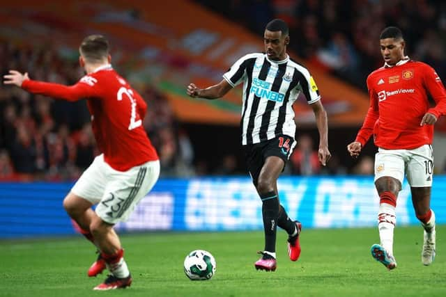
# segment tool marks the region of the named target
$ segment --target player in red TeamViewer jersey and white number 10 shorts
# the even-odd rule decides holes
[[[393,233],[397,196],[406,176],[415,214],[424,228],[422,264],[430,265],[436,254],[435,214],[430,207],[433,179],[433,125],[446,113],[446,91],[440,77],[425,63],[404,55],[401,30],[387,27],[380,35],[383,67],[367,78],[370,107],[355,141],[347,146],[357,157],[373,134],[375,186],[380,197],[378,230],[380,244],[371,255],[388,269],[397,267]],[[435,102],[431,107],[429,96]]]

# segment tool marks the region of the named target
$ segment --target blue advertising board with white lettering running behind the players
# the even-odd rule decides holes
[[[73,234],[62,206],[70,183],[0,183],[0,238]],[[279,198],[291,218],[306,228],[376,226],[379,198],[372,177],[281,177]],[[436,176],[432,209],[446,223],[446,177]],[[418,224],[403,185],[397,224]],[[160,179],[129,220],[132,231],[261,230],[261,201],[246,177]]]

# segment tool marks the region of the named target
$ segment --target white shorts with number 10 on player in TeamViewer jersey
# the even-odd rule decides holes
[[[432,186],[433,150],[423,145],[413,150],[378,149],[375,155],[375,181],[380,177],[394,177],[403,184],[404,175],[410,186]]]

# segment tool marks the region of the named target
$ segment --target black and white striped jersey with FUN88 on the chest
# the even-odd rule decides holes
[[[263,53],[247,54],[223,78],[231,86],[243,82],[240,125],[242,144],[267,141],[280,134],[295,137],[293,103],[302,92],[308,104],[321,99],[307,68],[291,61],[271,61]]]

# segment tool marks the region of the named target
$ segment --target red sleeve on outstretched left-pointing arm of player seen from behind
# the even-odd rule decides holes
[[[89,97],[98,97],[98,89],[93,87],[95,86],[95,82],[95,79],[88,75],[82,77],[73,86],[28,79],[23,81],[22,89],[33,94],[45,95],[55,99],[61,98],[67,101],[77,101]]]

